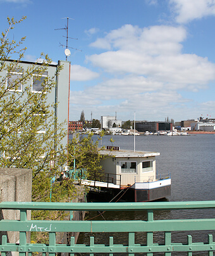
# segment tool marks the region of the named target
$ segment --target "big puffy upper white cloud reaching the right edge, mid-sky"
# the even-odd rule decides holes
[[[133,74],[150,77],[170,86],[196,91],[215,79],[215,65],[196,54],[182,54],[186,39],[183,27],[154,26],[139,29],[125,25],[102,40],[111,51],[87,56],[95,67],[110,74]]]

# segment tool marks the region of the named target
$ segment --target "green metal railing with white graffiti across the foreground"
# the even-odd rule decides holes
[[[187,236],[187,243],[173,243],[172,231],[210,231],[214,232],[215,219],[159,219],[154,220],[154,211],[157,210],[206,210],[215,208],[215,201],[205,202],[153,202],[153,203],[36,203],[36,202],[3,202],[0,207],[5,209],[20,210],[20,221],[1,220],[0,231],[20,231],[20,241],[18,244],[8,243],[7,236],[3,235],[2,245],[0,245],[1,255],[6,256],[6,252],[20,252],[25,255],[28,252],[42,252],[42,255],[49,253],[54,256],[57,252],[70,253],[107,253],[111,256],[115,253],[125,253],[124,255],[135,255],[135,253],[163,252],[169,256],[172,252],[183,252],[192,255],[192,252],[207,252],[212,256],[215,250],[215,242],[212,234],[208,234],[206,243],[193,243],[192,236]],[[147,211],[147,220],[141,221],[28,221],[27,210],[88,210],[88,211]],[[206,212],[207,215],[207,212]],[[27,243],[27,232],[46,231],[49,233],[48,244]],[[164,243],[154,243],[153,233],[164,232]],[[70,244],[56,244],[56,232],[84,232],[84,233],[128,233],[126,245],[114,243],[113,237],[109,237],[106,245],[96,244],[94,237],[90,237],[89,245],[75,244],[75,239],[71,237]],[[146,232],[147,241],[145,244],[135,243],[137,233]],[[96,234],[94,234],[96,235]],[[185,254],[182,254],[185,255]]]

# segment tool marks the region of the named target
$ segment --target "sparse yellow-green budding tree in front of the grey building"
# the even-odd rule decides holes
[[[14,18],[8,18],[9,29],[0,37],[0,166],[32,169],[32,200],[47,202],[50,200],[51,179],[58,175],[59,167],[67,160],[66,148],[61,145],[67,131],[54,117],[56,103],[47,104],[47,95],[56,86],[56,76],[62,67],[52,77],[42,77],[51,59],[41,54],[42,63],[23,70],[22,58],[26,48],[21,46],[25,37],[16,42],[9,41],[7,35],[24,19],[16,22]],[[12,56],[16,60],[11,60]],[[31,91],[33,75],[35,84],[41,86],[39,93]],[[19,90],[21,84],[23,91]],[[46,129],[46,132],[39,132],[41,129]],[[65,186],[68,186],[68,191],[73,190],[73,184]],[[65,193],[61,193],[63,190],[64,186],[59,184],[53,186],[52,200],[65,198]],[[72,192],[67,197],[71,195]]]

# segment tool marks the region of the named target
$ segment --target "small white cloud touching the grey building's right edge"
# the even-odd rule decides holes
[[[71,65],[70,80],[87,81],[96,79],[97,77],[99,77],[99,74],[89,70],[88,68],[80,65]]]

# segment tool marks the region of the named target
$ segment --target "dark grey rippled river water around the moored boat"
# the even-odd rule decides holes
[[[96,139],[97,136],[94,136]],[[113,146],[121,149],[133,150],[133,136],[104,136],[102,146],[111,146],[109,141],[114,139]],[[215,200],[215,134],[197,134],[192,136],[135,136],[135,150],[156,151],[161,153],[156,157],[158,173],[171,172],[171,196],[169,202],[175,201],[207,201]],[[86,219],[91,219],[97,212],[89,212]],[[146,212],[105,212],[106,220],[146,220]],[[155,211],[154,219],[199,219],[214,218],[213,209],[206,210],[169,210]],[[102,220],[102,217],[96,217]],[[193,242],[206,242],[207,234],[214,231],[173,232],[173,242],[187,242],[187,234],[192,234]],[[113,234],[111,234],[113,235]],[[89,236],[82,233],[78,243],[89,244]],[[94,234],[95,243],[108,243],[107,235]],[[109,234],[108,234],[109,236]],[[215,240],[215,239],[214,239]],[[135,243],[144,244],[145,233],[137,233]],[[114,243],[128,243],[128,234],[114,234]],[[164,233],[154,233],[154,243],[164,243]],[[137,254],[140,255],[140,254]],[[142,254],[144,255],[144,254]],[[163,255],[163,254],[154,254]],[[187,253],[173,253],[172,255],[187,255]],[[207,255],[207,253],[193,253],[193,255]]]

